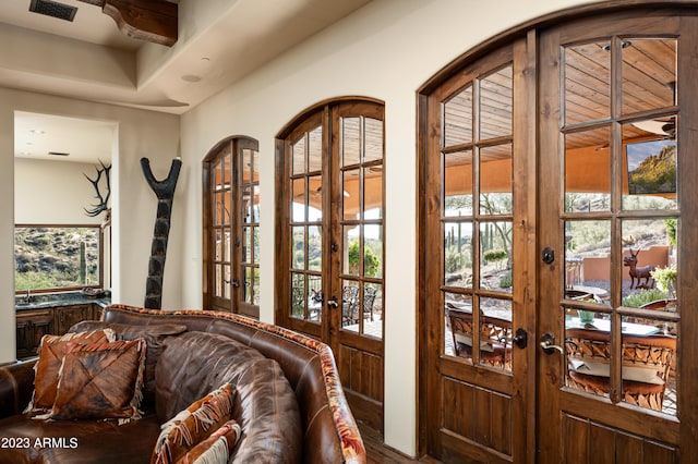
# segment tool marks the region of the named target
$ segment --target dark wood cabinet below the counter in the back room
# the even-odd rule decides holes
[[[16,312],[17,359],[36,356],[41,337],[62,335],[81,320],[98,320],[100,315],[101,307],[92,303]]]

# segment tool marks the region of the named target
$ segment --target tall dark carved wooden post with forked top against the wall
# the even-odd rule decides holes
[[[165,256],[167,254],[167,239],[170,233],[170,218],[172,215],[172,198],[177,179],[182,167],[182,160],[176,158],[170,166],[170,172],[163,181],[157,181],[151,171],[151,161],[141,158],[143,174],[153,192],[157,196],[157,216],[153,231],[151,260],[148,261],[148,277],[145,283],[144,306],[149,309],[160,309],[163,305],[163,272],[165,271]]]

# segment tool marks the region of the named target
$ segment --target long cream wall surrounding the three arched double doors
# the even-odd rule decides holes
[[[261,318],[274,318],[274,137],[317,101],[349,95],[385,101],[385,442],[417,443],[416,90],[473,46],[576,0],[374,0],[182,117],[185,190],[201,191],[201,160],[221,138],[249,135],[261,155]],[[200,306],[201,196],[186,198],[183,302]]]

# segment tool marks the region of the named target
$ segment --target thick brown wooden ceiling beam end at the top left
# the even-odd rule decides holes
[[[177,41],[177,3],[166,0],[80,0],[101,7],[119,30],[141,40],[171,47]]]

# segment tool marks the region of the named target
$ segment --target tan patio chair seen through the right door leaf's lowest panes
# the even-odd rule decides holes
[[[567,386],[599,395],[610,392],[609,332],[567,329]],[[623,335],[622,394],[626,403],[662,411],[676,353],[672,335]]]

